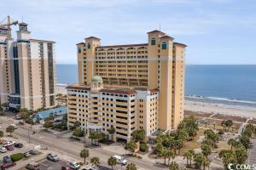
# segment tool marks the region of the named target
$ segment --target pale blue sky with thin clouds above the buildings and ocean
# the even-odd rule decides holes
[[[187,64],[256,64],[255,0],[0,0],[0,8],[1,21],[23,18],[33,38],[55,41],[57,64],[76,64],[85,37],[143,43],[156,29],[188,45]]]

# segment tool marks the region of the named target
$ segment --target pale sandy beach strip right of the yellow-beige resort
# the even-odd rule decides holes
[[[185,111],[195,111],[203,113],[218,113],[229,116],[253,117],[256,118],[256,107],[241,105],[224,105],[216,103],[203,103],[185,100]]]

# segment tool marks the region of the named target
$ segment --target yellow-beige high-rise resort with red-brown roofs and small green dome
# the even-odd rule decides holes
[[[149,136],[171,130],[183,120],[186,45],[162,31],[148,42],[102,46],[97,37],[77,44],[79,83],[67,87],[68,124],[87,132],[130,139],[144,129]]]

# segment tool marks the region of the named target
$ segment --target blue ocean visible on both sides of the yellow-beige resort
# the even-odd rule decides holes
[[[77,65],[56,65],[57,82],[78,82]],[[186,65],[185,99],[256,107],[256,65]]]

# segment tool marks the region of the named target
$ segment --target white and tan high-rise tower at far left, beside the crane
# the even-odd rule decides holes
[[[21,22],[17,40],[0,27],[0,101],[15,109],[55,106],[55,42],[31,38]]]

